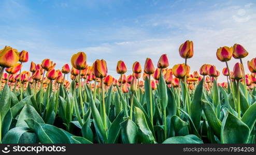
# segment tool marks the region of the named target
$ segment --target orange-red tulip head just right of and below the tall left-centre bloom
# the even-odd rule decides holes
[[[94,62],[93,73],[98,78],[107,76],[107,73],[108,73],[107,63],[104,59],[102,59],[102,60],[97,59]]]

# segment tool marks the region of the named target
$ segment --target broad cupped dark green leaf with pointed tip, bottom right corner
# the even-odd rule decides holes
[[[228,113],[222,121],[221,143],[244,144],[250,136],[249,127],[236,116]]]

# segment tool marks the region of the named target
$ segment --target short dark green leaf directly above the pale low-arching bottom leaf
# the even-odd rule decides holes
[[[185,136],[189,134],[189,124],[183,121],[178,116],[171,118],[172,126],[175,131],[175,136]]]

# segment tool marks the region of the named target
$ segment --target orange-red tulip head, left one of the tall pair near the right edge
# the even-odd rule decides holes
[[[227,46],[219,48],[216,53],[217,58],[222,62],[229,61],[232,57],[232,54],[233,54],[232,47],[229,48]]]

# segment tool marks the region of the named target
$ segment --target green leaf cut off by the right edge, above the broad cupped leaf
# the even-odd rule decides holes
[[[241,120],[246,123],[246,125],[252,131],[254,124],[256,122],[256,102],[254,102],[245,112]]]

